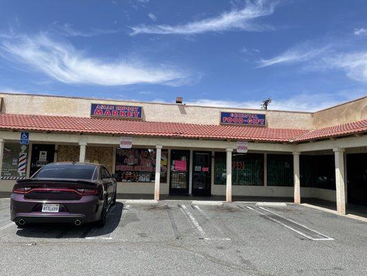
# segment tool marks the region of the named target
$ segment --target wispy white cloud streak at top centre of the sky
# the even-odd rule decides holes
[[[218,17],[200,21],[192,21],[182,25],[140,25],[132,27],[131,35],[136,34],[201,34],[204,32],[222,32],[225,30],[261,31],[269,26],[254,23],[254,19],[273,14],[275,3],[268,4],[266,0],[247,1],[247,6],[223,12]]]

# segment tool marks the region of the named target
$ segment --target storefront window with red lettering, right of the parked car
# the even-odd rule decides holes
[[[167,182],[168,150],[162,150],[160,182]],[[148,148],[116,148],[117,181],[154,182],[156,177],[156,150]]]

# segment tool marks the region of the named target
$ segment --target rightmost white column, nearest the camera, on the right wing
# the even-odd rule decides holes
[[[344,148],[333,148],[335,155],[335,184],[337,192],[337,213],[346,215],[346,186],[344,178]]]

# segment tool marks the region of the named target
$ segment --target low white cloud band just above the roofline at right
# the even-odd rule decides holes
[[[324,108],[330,108],[344,101],[355,99],[358,95],[365,95],[361,92],[348,93],[319,93],[319,94],[300,94],[289,98],[273,98],[269,104],[269,110],[292,110],[292,111],[306,111],[315,112]],[[212,99],[196,99],[185,102],[190,105],[197,106],[217,106],[227,108],[249,108],[260,109],[262,101],[221,101]]]

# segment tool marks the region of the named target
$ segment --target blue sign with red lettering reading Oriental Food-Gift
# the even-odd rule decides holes
[[[220,124],[266,126],[264,114],[220,112]]]

